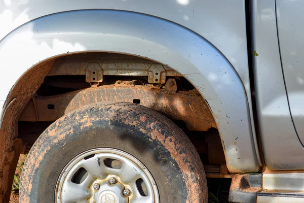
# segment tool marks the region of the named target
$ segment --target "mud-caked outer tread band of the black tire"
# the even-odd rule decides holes
[[[92,117],[91,112],[94,112],[94,115],[98,116]],[[134,119],[134,117],[137,118]],[[81,122],[90,126],[93,121],[96,122],[98,119],[107,120],[109,123],[111,120],[120,120],[127,125],[134,126],[134,129],[139,128],[138,130],[146,133],[152,141],[162,143],[165,148],[168,149],[183,174],[183,179],[187,186],[186,202],[197,203],[207,201],[207,182],[203,164],[191,141],[189,141],[185,134],[168,118],[140,105],[99,103],[97,105],[80,108],[58,119],[44,132],[48,134],[48,136],[41,136],[35,145],[43,146],[43,143],[46,142],[49,137],[54,137],[55,135],[56,138],[53,142],[62,141],[64,136],[61,133],[61,125],[67,126],[69,123]],[[72,131],[68,133],[72,133]],[[28,161],[25,165],[26,170],[24,171],[24,176],[28,177],[28,179],[24,182],[22,181],[22,184],[24,184],[22,187],[26,190],[24,193],[21,193],[21,198],[24,202],[29,200],[27,195],[31,191],[32,180],[30,174],[39,170],[37,161],[48,156],[50,150],[51,149],[42,150],[39,147],[35,147],[28,155]]]

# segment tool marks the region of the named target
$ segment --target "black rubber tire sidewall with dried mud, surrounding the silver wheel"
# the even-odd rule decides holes
[[[28,163],[26,161],[24,165],[30,189],[22,188],[27,184],[26,180],[21,178],[20,202],[54,202],[57,180],[66,164],[78,154],[103,147],[122,150],[140,160],[154,177],[160,202],[186,202],[189,199],[189,184],[202,183],[202,180],[205,184],[203,171],[199,177],[187,176],[172,157],[172,152],[178,152],[183,161],[188,163],[189,160],[184,158],[184,154],[193,156],[194,152],[187,143],[179,143],[175,148],[168,149],[168,145],[165,146],[167,140],[151,136],[151,133],[157,131],[158,136],[162,138],[185,137],[177,126],[159,122],[154,116],[146,116],[144,121],[138,122],[141,118],[129,114],[127,117],[125,114],[101,116],[90,110],[89,116],[85,115],[87,114],[82,111],[77,116],[72,114],[71,118],[76,119],[68,117],[56,121],[34,144],[27,158],[31,160]],[[128,119],[134,122],[126,122]],[[38,157],[39,161],[33,162],[31,157]],[[189,170],[191,173],[195,172],[194,165],[189,165]],[[198,196],[204,197],[202,194],[205,195],[206,191],[202,193],[200,187],[197,190]],[[22,201],[24,196],[27,198]],[[203,202],[204,199],[202,198]]]

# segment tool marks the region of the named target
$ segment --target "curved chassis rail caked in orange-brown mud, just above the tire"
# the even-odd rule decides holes
[[[66,113],[80,107],[107,101],[140,101],[140,105],[154,109],[172,120],[182,120],[189,130],[207,131],[216,128],[206,101],[197,90],[179,91],[175,95],[153,86],[103,85],[56,96],[36,96],[35,105],[29,103],[20,121],[55,121]],[[48,105],[54,109],[48,109]],[[30,113],[32,112],[32,113]]]

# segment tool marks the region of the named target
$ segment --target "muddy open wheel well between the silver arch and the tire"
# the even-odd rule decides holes
[[[94,82],[93,73],[95,80],[97,74],[102,79]],[[176,89],[168,81],[174,81]],[[164,64],[124,54],[71,54],[46,61],[43,67],[32,67],[17,85],[8,103],[14,97],[23,98],[18,99],[15,109],[18,133],[12,132],[12,137],[22,140],[21,153],[27,153],[52,122],[74,108],[88,102],[129,101],[155,109],[173,120],[195,145],[207,176],[221,177],[221,172],[228,173],[207,101],[181,74]],[[152,98],[153,94],[156,96]],[[94,98],[100,100],[92,101]],[[72,105],[62,105],[62,101]],[[77,103],[79,106],[74,105]]]

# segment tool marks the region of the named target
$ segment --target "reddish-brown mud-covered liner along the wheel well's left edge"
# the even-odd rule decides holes
[[[0,202],[9,202],[15,168],[22,148],[17,139],[17,121],[22,110],[43,83],[53,62],[43,62],[30,69],[12,88],[6,101],[0,129]]]

